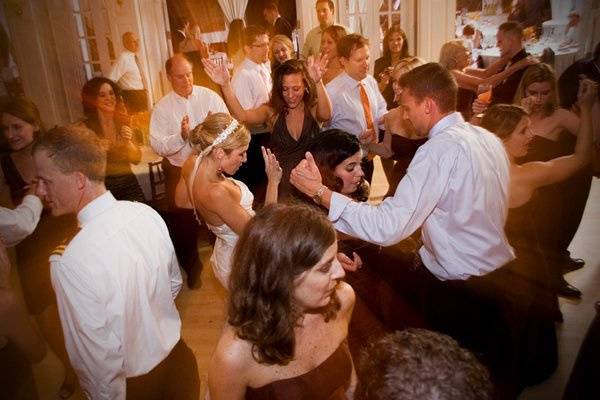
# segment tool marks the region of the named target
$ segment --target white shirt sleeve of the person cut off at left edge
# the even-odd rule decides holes
[[[15,209],[0,207],[0,239],[10,247],[35,230],[42,215],[42,202],[37,196],[28,194]]]

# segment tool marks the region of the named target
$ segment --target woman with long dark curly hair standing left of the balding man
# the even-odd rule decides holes
[[[122,103],[121,90],[107,78],[92,78],[81,89],[85,121],[106,148],[106,188],[117,200],[144,201],[144,192],[131,170],[142,151],[134,140],[129,116]]]

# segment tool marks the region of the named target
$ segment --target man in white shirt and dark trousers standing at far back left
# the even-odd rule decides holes
[[[112,66],[107,78],[115,81],[122,89],[123,100],[130,113],[148,110],[148,81],[140,64],[137,52],[140,43],[133,32],[122,37],[125,50]]]

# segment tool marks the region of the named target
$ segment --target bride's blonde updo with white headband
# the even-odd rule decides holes
[[[214,113],[207,116],[204,122],[192,130],[188,139],[190,146],[196,152],[201,153],[212,146],[217,137],[230,127],[233,128],[231,133],[223,141],[215,144],[213,148],[220,148],[229,153],[233,149],[247,146],[250,143],[250,132],[243,124],[238,123],[229,114]]]

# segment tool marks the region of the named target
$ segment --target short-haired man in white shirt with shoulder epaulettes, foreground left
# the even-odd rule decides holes
[[[50,264],[67,352],[84,393],[169,398],[163,390],[169,373],[184,369],[176,358],[186,347],[174,301],[181,274],[164,221],[147,205],[117,201],[106,190],[106,153],[87,129],[49,131],[33,158],[37,194],[52,215],[77,214],[79,222],[80,231]],[[197,371],[194,385],[190,395],[197,398]]]

